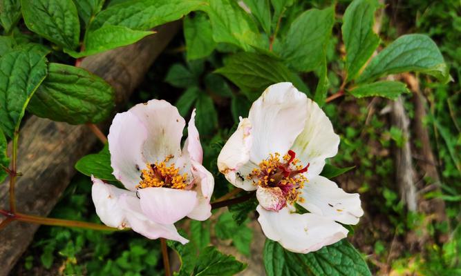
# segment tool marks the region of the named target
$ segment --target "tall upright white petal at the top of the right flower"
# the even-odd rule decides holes
[[[308,116],[307,97],[292,83],[282,82],[269,86],[250,108],[253,146],[250,160],[255,164],[290,150],[296,137],[303,131]]]

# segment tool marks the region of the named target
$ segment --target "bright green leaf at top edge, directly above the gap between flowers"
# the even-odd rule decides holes
[[[237,1],[214,0],[204,9],[211,20],[213,39],[216,42],[231,43],[243,50],[251,50],[252,46],[264,48],[261,34],[250,14],[247,14]]]

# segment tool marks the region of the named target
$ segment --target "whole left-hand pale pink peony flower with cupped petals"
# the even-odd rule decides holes
[[[167,101],[153,99],[115,116],[108,137],[111,166],[126,190],[92,178],[93,202],[104,224],[185,244],[173,224],[184,217],[209,218],[214,178],[202,166],[194,120],[195,110],[181,150],[185,120]]]

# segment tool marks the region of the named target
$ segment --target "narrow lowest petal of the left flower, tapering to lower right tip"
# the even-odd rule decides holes
[[[178,241],[181,244],[189,242],[189,240],[179,235],[173,224],[158,224],[146,217],[141,210],[140,200],[137,197],[122,195],[120,197],[120,206],[126,213],[126,219],[128,219],[131,228],[144,237],[149,239],[163,237]]]

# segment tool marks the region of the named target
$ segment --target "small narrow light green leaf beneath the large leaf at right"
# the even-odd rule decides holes
[[[357,98],[377,96],[397,99],[402,93],[408,93],[410,91],[406,88],[406,84],[400,81],[377,81],[374,83],[360,84],[348,92]]]

